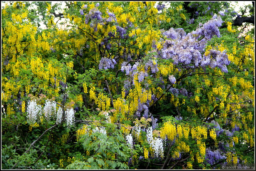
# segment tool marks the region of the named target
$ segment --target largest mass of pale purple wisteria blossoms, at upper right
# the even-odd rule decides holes
[[[207,55],[201,55],[205,51],[206,43],[214,36],[220,37],[219,28],[222,24],[220,16],[213,16],[204,25],[200,25],[191,33],[184,32],[183,29],[170,28],[163,32],[163,35],[170,39],[166,40],[162,49],[163,59],[172,59],[173,64],[180,64],[185,68],[218,67],[223,72],[227,72],[226,65],[230,64],[225,51],[211,49]]]

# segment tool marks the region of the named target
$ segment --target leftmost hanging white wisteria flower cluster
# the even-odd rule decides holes
[[[36,104],[36,100],[33,100],[29,102],[27,112],[27,118],[29,119],[29,122],[34,124],[36,122],[37,117],[41,116],[42,108],[40,105]]]

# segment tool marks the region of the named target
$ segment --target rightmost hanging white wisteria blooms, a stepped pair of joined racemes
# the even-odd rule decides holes
[[[154,150],[154,153],[156,157],[159,155],[162,157],[164,155],[164,147],[163,147],[163,142],[161,138],[153,138],[153,133],[152,133],[152,126],[146,130],[147,132],[147,141],[149,142],[150,146]]]

